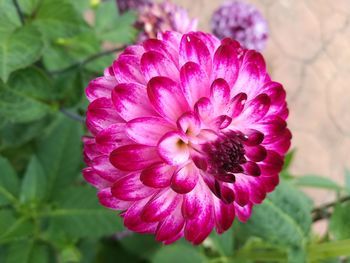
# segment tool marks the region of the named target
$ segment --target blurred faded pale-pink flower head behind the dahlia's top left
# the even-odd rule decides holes
[[[161,3],[143,5],[139,9],[135,26],[141,31],[139,40],[143,41],[156,38],[158,32],[167,30],[180,33],[194,31],[197,29],[197,20],[191,19],[184,8],[165,0]]]

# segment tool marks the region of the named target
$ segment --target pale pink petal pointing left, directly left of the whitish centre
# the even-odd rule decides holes
[[[162,118],[144,117],[129,121],[126,125],[126,133],[136,143],[156,146],[159,139],[172,128]]]

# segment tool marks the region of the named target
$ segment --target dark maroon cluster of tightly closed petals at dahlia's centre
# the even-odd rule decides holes
[[[214,142],[203,146],[208,158],[207,172],[224,182],[235,181],[235,173],[243,172],[241,164],[247,162],[243,135],[236,132],[221,134]]]

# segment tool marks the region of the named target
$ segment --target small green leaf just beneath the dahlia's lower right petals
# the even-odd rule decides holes
[[[233,235],[233,228],[231,227],[222,234],[213,232],[209,240],[213,242],[214,249],[218,251],[221,256],[230,256],[234,251]]]

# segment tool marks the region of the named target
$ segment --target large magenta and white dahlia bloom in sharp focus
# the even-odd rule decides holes
[[[234,40],[162,33],[126,48],[86,94],[84,177],[132,231],[199,244],[278,184],[286,93]]]

